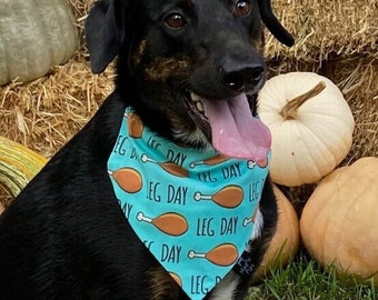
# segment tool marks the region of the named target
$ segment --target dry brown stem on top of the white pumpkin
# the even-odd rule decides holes
[[[297,110],[298,108],[304,104],[308,99],[311,99],[316,96],[318,96],[324,89],[326,89],[326,83],[324,81],[320,81],[318,84],[316,84],[312,89],[310,89],[308,92],[305,92],[291,100],[289,100],[286,106],[281,109],[279,114],[284,118],[284,120],[294,120],[297,117]]]

